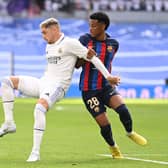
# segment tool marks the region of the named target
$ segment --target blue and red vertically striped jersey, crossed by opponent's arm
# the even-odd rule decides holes
[[[93,37],[91,37],[90,34],[82,35],[79,38],[79,41],[87,48],[93,48],[97,53],[97,57],[99,57],[99,59],[111,73],[112,60],[118,50],[119,43],[115,39],[110,38],[108,34],[107,38],[104,41],[97,41]],[[92,63],[87,61],[82,66],[79,83],[80,90],[100,90],[107,84],[108,81]]]

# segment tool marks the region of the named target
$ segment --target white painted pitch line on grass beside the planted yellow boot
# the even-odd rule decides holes
[[[109,154],[99,154],[99,156],[112,157]],[[148,159],[140,159],[140,158],[134,158],[134,157],[124,157],[123,159],[137,160],[137,161],[143,161],[143,162],[150,162],[150,163],[157,163],[157,164],[168,165],[168,162],[158,161],[158,160],[148,160]]]

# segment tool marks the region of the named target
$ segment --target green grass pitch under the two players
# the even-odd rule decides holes
[[[17,132],[0,138],[2,168],[162,168],[168,167],[168,100],[126,100],[134,129],[148,140],[145,147],[125,135],[117,114],[108,110],[113,135],[125,157],[115,160],[99,134],[99,128],[81,99],[64,99],[47,114],[47,129],[41,146],[41,160],[26,163],[32,147],[35,99],[16,99]],[[0,123],[3,122],[2,103]],[[135,160],[139,159],[139,160]]]

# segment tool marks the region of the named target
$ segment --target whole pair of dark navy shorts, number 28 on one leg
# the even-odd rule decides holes
[[[110,98],[119,94],[116,88],[107,85],[101,90],[82,91],[82,99],[86,108],[93,117],[106,112],[106,106],[109,107]]]

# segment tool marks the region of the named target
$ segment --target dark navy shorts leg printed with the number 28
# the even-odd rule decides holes
[[[82,92],[82,99],[85,103],[85,106],[94,118],[106,112],[106,107],[101,97],[102,96],[100,91]]]

